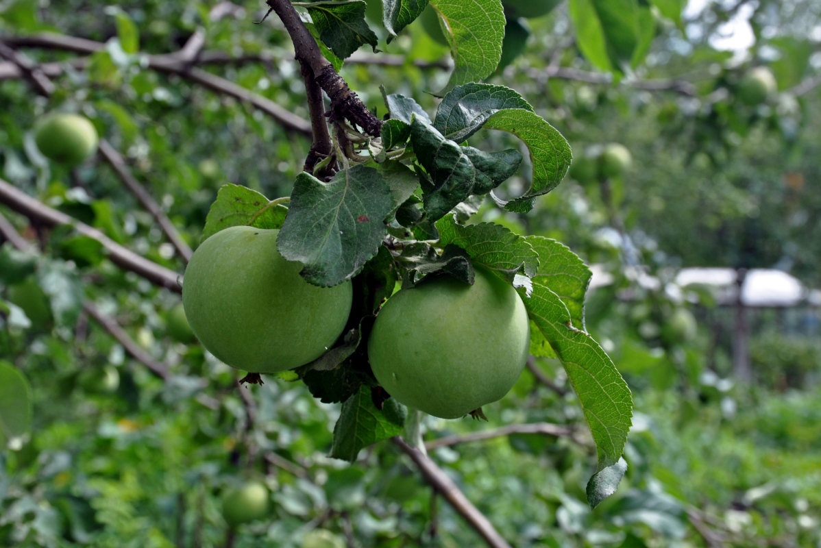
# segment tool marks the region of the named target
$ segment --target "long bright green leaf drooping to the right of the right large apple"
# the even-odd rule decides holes
[[[633,400],[627,383],[593,337],[571,324],[558,295],[538,281],[525,301],[530,319],[539,327],[567,372],[599,454],[597,472],[618,462],[631,427]]]

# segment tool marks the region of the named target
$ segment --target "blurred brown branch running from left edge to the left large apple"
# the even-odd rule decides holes
[[[16,189],[2,179],[0,179],[0,203],[5,203],[9,208],[22,213],[25,217],[47,226],[71,226],[81,235],[93,238],[103,244],[103,248],[108,253],[108,258],[118,267],[135,272],[135,274],[143,276],[146,280],[166,289],[178,293],[182,290],[182,276],[177,272],[149,261],[149,259],[134,253],[131,249],[126,249],[96,228],[77,221],[66,213],[49,208],[44,203]]]

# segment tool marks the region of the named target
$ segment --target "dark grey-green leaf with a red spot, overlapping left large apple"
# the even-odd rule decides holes
[[[391,190],[373,167],[339,171],[328,183],[303,171],[296,177],[277,249],[305,265],[305,280],[337,285],[377,253],[392,210]]]

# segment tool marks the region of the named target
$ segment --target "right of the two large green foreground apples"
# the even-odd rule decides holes
[[[525,304],[482,267],[475,283],[448,276],[393,295],[374,322],[368,358],[388,394],[440,418],[499,400],[530,348]]]

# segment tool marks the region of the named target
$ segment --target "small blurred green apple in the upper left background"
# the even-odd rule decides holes
[[[94,124],[79,114],[49,114],[34,127],[34,142],[40,152],[67,167],[85,162],[97,150],[98,140]]]

